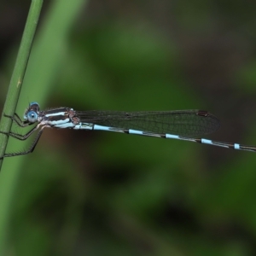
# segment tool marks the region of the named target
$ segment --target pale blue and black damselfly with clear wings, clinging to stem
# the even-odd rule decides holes
[[[116,131],[148,137],[172,138],[194,143],[204,143],[223,148],[256,151],[255,146],[197,138],[199,135],[217,131],[219,127],[218,119],[212,113],[203,110],[114,112],[75,111],[73,108],[51,108],[40,111],[38,102],[31,102],[26,109],[24,121],[16,113],[14,117],[5,116],[12,119],[20,127],[35,125],[32,130],[24,135],[11,131],[7,134],[10,137],[26,140],[34,131],[39,131],[32,145],[26,151],[4,154],[3,157],[32,153],[46,127],[69,128],[73,130]]]

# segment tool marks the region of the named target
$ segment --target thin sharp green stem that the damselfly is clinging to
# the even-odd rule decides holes
[[[38,25],[39,15],[42,9],[43,0],[32,0],[31,7],[27,16],[26,26],[21,38],[20,49],[15,62],[14,72],[9,84],[8,94],[3,107],[2,118],[0,121],[0,131],[9,133],[12,120],[3,116],[8,114],[13,116],[20,96],[21,85],[26,72],[26,65],[32,49],[32,42]],[[8,137],[0,133],[0,158],[3,157],[8,143]],[[0,160],[0,170],[3,160]]]

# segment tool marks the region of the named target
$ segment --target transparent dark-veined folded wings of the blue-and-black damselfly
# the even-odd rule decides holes
[[[120,129],[181,136],[199,136],[218,130],[219,121],[207,111],[177,110],[165,112],[76,111],[81,122]]]

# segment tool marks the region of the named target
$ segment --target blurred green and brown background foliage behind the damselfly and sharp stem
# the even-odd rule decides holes
[[[17,113],[34,101],[42,109],[205,109],[222,123],[209,138],[256,144],[256,3],[67,2],[44,3]],[[0,108],[29,4],[0,3]],[[26,145],[10,139],[8,150]],[[0,253],[255,255],[255,156],[46,129],[33,154],[3,162]]]

